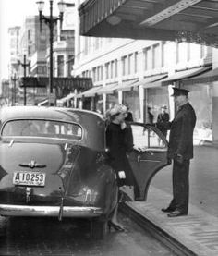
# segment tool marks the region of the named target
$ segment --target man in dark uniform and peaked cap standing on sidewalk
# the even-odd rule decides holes
[[[188,90],[173,88],[177,112],[174,120],[168,122],[170,129],[168,157],[173,160],[173,200],[163,208],[168,217],[188,214],[189,197],[189,164],[193,158],[193,131],[196,115],[188,103]],[[158,126],[158,124],[157,124]]]

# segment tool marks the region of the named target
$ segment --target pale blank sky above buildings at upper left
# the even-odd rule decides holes
[[[8,34],[10,27],[22,26],[27,16],[38,15],[37,0],[0,0],[0,81],[8,79]],[[54,9],[57,6],[54,0]],[[44,0],[44,13],[49,13],[49,0]],[[57,10],[56,10],[57,11]],[[55,11],[54,11],[55,14]]]

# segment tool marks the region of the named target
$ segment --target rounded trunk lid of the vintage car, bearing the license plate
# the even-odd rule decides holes
[[[1,201],[59,205],[80,146],[60,140],[0,143]]]

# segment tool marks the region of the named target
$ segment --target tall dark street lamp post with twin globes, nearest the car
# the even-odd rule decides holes
[[[65,6],[66,4],[63,2],[63,0],[61,0],[58,3],[58,8],[60,11],[59,17],[58,18],[54,18],[53,17],[53,0],[49,0],[50,2],[50,17],[47,18],[45,16],[42,15],[42,10],[43,10],[43,6],[44,6],[44,1],[39,1],[36,2],[38,5],[38,9],[39,9],[39,16],[40,16],[40,29],[42,30],[42,21],[44,21],[50,30],[50,55],[49,55],[49,62],[50,62],[50,70],[49,70],[49,105],[52,105],[51,100],[52,100],[52,96],[54,91],[53,91],[53,41],[54,41],[54,24],[57,23],[57,20],[60,20],[60,27],[62,27],[62,22],[63,22],[63,14],[65,11]]]

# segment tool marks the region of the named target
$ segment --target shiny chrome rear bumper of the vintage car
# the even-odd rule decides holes
[[[49,216],[58,217],[60,206],[31,206],[0,204],[2,216]],[[64,206],[63,217],[97,217],[103,213],[99,207]]]

